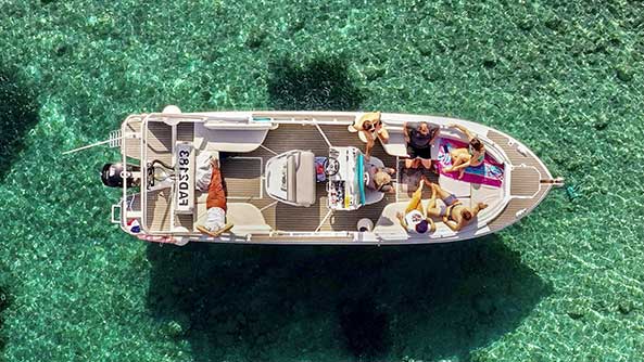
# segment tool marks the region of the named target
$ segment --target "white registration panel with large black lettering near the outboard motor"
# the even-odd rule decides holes
[[[194,205],[194,155],[192,144],[188,142],[177,142],[177,198],[176,211],[192,212]]]

